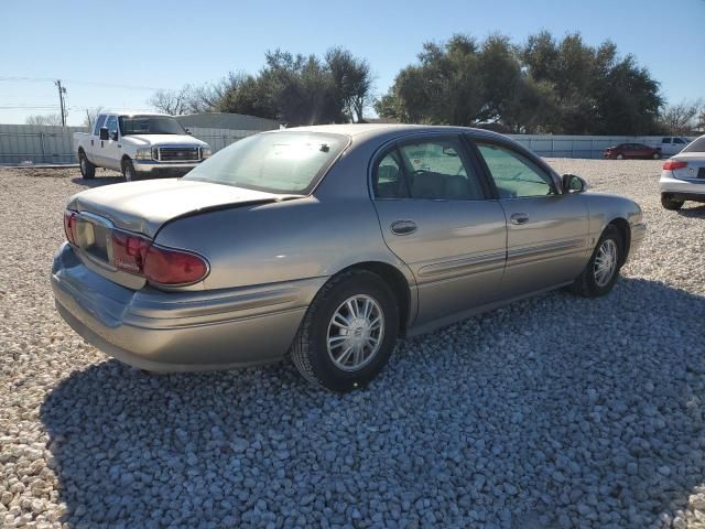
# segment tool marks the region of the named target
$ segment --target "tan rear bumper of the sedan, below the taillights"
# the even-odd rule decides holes
[[[197,292],[132,291],[90,271],[70,246],[52,267],[62,317],[87,342],[143,369],[229,369],[281,359],[325,278]]]

